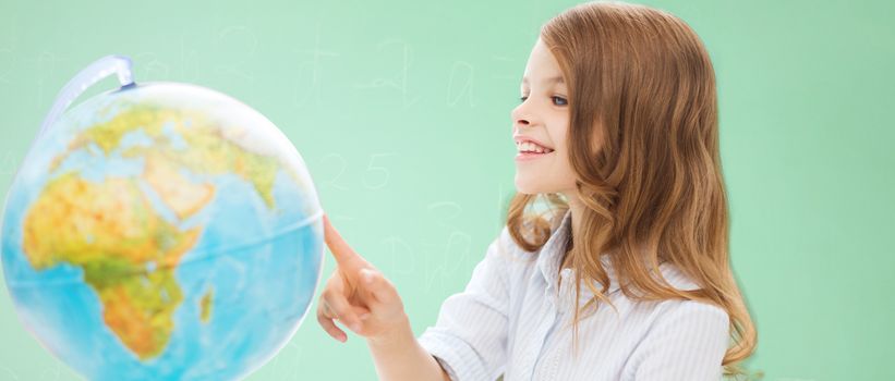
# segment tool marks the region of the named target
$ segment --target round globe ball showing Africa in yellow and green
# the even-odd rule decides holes
[[[26,329],[89,379],[234,379],[305,317],[322,216],[302,157],[257,111],[129,84],[35,139],[7,195],[3,274]]]

